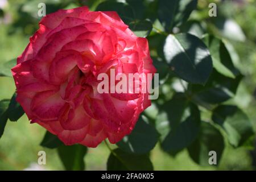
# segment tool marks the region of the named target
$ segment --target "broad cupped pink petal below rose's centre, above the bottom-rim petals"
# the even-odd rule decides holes
[[[65,130],[79,130],[90,123],[92,118],[85,113],[84,107],[80,105],[76,109],[69,109],[60,117],[60,124]]]

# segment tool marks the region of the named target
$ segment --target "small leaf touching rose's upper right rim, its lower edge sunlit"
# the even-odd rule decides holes
[[[129,28],[134,32],[135,35],[146,38],[152,30],[152,23],[150,20],[139,20],[131,22],[129,24]]]

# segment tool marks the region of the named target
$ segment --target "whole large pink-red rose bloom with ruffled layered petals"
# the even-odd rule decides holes
[[[96,147],[130,134],[151,104],[148,93],[98,93],[97,75],[110,69],[155,73],[148,42],[116,12],[79,7],[43,17],[11,70],[16,100],[31,123],[66,145]]]

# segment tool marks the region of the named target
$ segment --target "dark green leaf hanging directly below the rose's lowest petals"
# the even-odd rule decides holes
[[[85,146],[80,144],[74,144],[73,146],[61,145],[57,148],[57,151],[66,170],[84,170],[84,156],[87,152],[87,148]]]

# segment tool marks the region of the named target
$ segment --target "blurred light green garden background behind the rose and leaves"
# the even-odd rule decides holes
[[[154,0],[151,0],[154,1]],[[38,3],[47,3],[47,13],[58,9],[70,9],[82,5],[94,10],[101,1],[76,0],[0,0],[0,63],[5,63],[19,56],[28,43],[29,37],[38,28]],[[229,24],[234,30],[238,27],[236,35],[225,30],[224,36],[229,36],[240,57],[238,64],[245,77],[238,87],[236,104],[241,107],[253,122],[256,128],[256,3],[253,0],[237,1],[208,1],[199,0],[197,9],[191,17],[208,14],[210,2],[217,3],[218,15],[234,20],[237,24]],[[202,13],[204,12],[204,13]],[[203,14],[203,15],[202,15]],[[200,26],[204,26],[201,24]],[[233,27],[232,27],[233,26]],[[235,26],[235,27],[234,27]],[[236,27],[237,26],[237,27]],[[214,27],[214,28],[216,28]],[[240,27],[240,28],[239,28]],[[191,32],[200,32],[195,25],[188,26]],[[236,55],[236,56],[237,56]],[[13,78],[0,77],[0,100],[10,98],[15,92]],[[28,122],[23,115],[18,122],[7,122],[5,133],[0,139],[0,170],[46,169],[63,170],[64,167],[55,149],[40,146],[45,129],[39,125]],[[38,166],[38,151],[47,153],[47,164]],[[97,148],[89,148],[86,155],[86,170],[104,170],[110,151],[104,143]],[[253,148],[240,147],[234,149],[226,143],[224,154],[218,167],[202,167],[189,158],[187,150],[179,152],[176,156],[163,152],[159,144],[151,151],[151,160],[155,170],[254,170],[256,169],[256,152]]]

